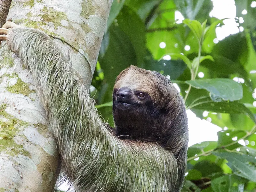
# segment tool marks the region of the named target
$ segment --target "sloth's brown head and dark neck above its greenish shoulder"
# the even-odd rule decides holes
[[[157,142],[169,150],[187,143],[184,101],[158,72],[135,66],[123,70],[113,90],[113,116],[120,139]]]

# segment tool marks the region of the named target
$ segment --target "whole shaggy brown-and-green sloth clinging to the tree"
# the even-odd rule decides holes
[[[63,170],[76,190],[181,190],[188,120],[182,97],[165,76],[135,66],[124,69],[114,85],[112,128],[98,116],[72,61],[47,34],[7,22],[0,40],[34,77]]]

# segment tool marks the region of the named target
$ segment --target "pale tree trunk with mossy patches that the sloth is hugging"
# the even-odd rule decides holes
[[[68,52],[89,88],[111,3],[12,0],[7,19],[44,30]],[[56,142],[31,75],[5,42],[0,47],[0,125],[0,191],[52,191],[60,165]]]

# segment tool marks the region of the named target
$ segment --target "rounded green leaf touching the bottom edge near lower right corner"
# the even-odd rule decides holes
[[[236,175],[224,175],[212,180],[214,192],[237,192],[244,191],[244,181]]]

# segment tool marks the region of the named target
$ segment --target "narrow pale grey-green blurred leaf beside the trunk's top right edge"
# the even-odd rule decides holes
[[[121,11],[121,9],[124,5],[124,2],[125,2],[125,0],[113,0],[111,9],[109,12],[109,16],[108,16],[106,31],[108,31],[110,25],[112,25],[113,21],[116,19],[116,16]]]

